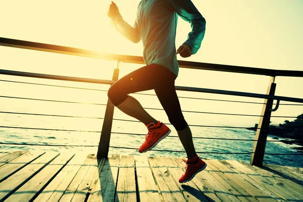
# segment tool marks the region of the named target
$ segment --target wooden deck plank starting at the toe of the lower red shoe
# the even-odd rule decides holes
[[[252,195],[250,195],[245,188],[242,188],[237,183],[229,179],[220,169],[213,166],[212,162],[214,160],[207,160],[207,171],[217,179],[224,187],[226,187],[229,192],[235,195],[240,201],[254,201],[258,202],[258,200]]]

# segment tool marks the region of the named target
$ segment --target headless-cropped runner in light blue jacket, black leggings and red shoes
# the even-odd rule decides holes
[[[178,15],[191,24],[187,40],[177,49],[175,45]],[[145,124],[148,133],[139,153],[150,150],[171,130],[151,117],[130,93],[154,89],[170,123],[176,129],[186,151],[185,173],[180,183],[190,181],[207,164],[196,154],[190,128],[185,121],[175,90],[179,65],[177,54],[187,58],[195,54],[204,38],[206,20],[190,0],[142,0],[137,9],[134,26],[123,20],[117,5],[112,2],[108,16],[116,29],[134,43],[142,40],[146,66],[115,82],[108,97],[118,109]]]

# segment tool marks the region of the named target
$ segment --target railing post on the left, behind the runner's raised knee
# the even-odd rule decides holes
[[[119,63],[120,61],[118,61],[117,69],[114,69],[113,81],[117,81],[119,78]],[[97,151],[97,158],[108,157],[113,117],[114,117],[114,109],[115,106],[112,104],[111,100],[108,99],[102,131],[100,135],[98,151]]]

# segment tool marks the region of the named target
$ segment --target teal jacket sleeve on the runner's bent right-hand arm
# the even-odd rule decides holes
[[[183,44],[191,47],[191,54],[197,53],[205,35],[206,20],[190,0],[167,0],[170,7],[185,21],[190,23],[191,32]]]

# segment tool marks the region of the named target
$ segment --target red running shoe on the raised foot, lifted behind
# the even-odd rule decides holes
[[[154,148],[162,139],[164,139],[171,132],[171,130],[160,121],[158,121],[157,124],[148,124],[147,129],[148,133],[145,136],[145,141],[139,148],[139,153],[143,153]]]

